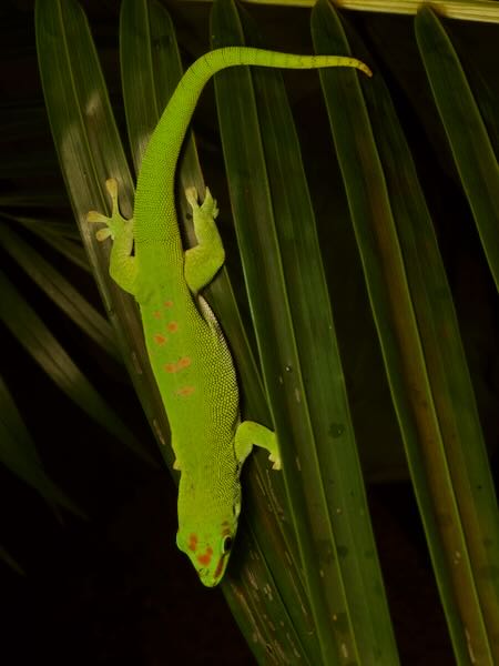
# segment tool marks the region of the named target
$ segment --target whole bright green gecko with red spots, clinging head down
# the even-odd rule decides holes
[[[96,238],[113,240],[110,274],[140,306],[149,359],[171,425],[174,468],[181,472],[176,544],[208,587],[220,583],[227,566],[241,512],[241,468],[253,445],[266,448],[273,468],[281,468],[275,434],[240,418],[234,363],[200,294],[225,259],[215,225],[216,202],[207,188],[202,205],[194,188],[185,191],[197,240],[185,251],[175,212],[176,162],[197,99],[215,72],[237,64],[353,67],[371,75],[366,64],[347,57],[242,47],[211,51],[187,69],[151,137],[133,220],[120,214],[114,179],[106,181],[111,218],[88,214],[88,221],[106,224]]]

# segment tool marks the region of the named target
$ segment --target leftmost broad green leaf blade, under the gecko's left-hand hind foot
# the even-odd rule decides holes
[[[104,305],[141,404],[171,463],[169,426],[145,351],[135,301],[109,275],[110,243],[95,240],[90,210],[109,211],[104,183],[120,183],[132,212],[133,182],[86,18],[74,0],[37,0],[37,50],[47,110],[62,174]],[[75,48],[78,44],[78,48]]]

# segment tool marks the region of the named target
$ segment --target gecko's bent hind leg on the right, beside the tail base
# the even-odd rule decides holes
[[[215,224],[218,208],[210,190],[206,188],[206,195],[201,205],[197,203],[195,188],[187,188],[185,196],[192,208],[197,245],[185,252],[184,274],[189,289],[197,294],[222,268],[225,252]]]

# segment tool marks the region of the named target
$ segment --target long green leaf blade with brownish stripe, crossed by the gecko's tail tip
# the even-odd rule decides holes
[[[313,11],[313,34],[319,52],[330,49],[339,53],[348,52],[339,19],[323,0],[319,0]],[[375,78],[378,77],[380,74],[375,73]],[[419,265],[415,263],[414,256],[406,260],[403,255],[394,220],[396,211],[400,215],[400,224],[404,222],[406,211],[403,202],[397,203],[397,198],[410,196],[413,181],[404,183],[401,188],[398,181],[399,186],[396,188],[391,173],[390,194],[395,192],[395,200],[390,201],[364,103],[356,108],[348,103],[345,98],[349,90],[346,82],[333,79],[328,72],[320,73],[320,78],[386,372],[456,657],[459,663],[467,664],[469,649],[472,649],[477,658],[479,655],[479,658],[489,663],[487,659],[491,659],[491,646],[485,630],[482,608],[470,563],[470,545],[465,538],[456,488],[447,460],[445,435],[439,422],[442,412],[438,413],[425,359],[425,352],[431,349],[432,341],[429,334],[424,341],[419,333],[419,325],[426,323],[428,326],[428,322],[432,324],[431,314],[429,319],[427,313],[426,319],[421,316],[425,303],[421,305],[420,302],[420,316],[417,319],[413,289],[419,289],[418,297],[421,299],[421,289],[425,287],[417,281],[414,285],[413,282],[409,283],[407,261],[413,261],[413,281],[415,276],[419,279]],[[375,85],[375,79],[363,84],[364,88]],[[356,94],[359,100],[363,99],[360,90],[357,89]],[[386,110],[387,102],[383,99],[383,93],[373,95],[371,99],[375,100],[373,104],[381,107],[383,112]],[[337,100],[342,100],[342,103]],[[386,123],[387,119],[383,114],[383,129]],[[396,168],[400,169],[400,152],[395,152],[398,149],[394,147],[396,142],[400,144],[400,137],[388,135],[384,141],[389,142],[385,152],[397,155]],[[394,167],[391,164],[391,169]],[[416,205],[418,203],[420,202],[416,199]],[[411,216],[414,215],[413,210]],[[419,225],[419,219],[417,224]],[[427,226],[424,226],[424,231],[428,234]],[[424,236],[420,246],[424,246],[427,240],[428,236]],[[429,241],[435,242],[435,239],[429,236]],[[409,241],[406,239],[406,243],[408,242],[410,236]],[[450,312],[450,315],[452,314],[454,312]],[[462,366],[462,359],[460,360],[461,372],[466,373],[466,364]],[[469,389],[468,386],[468,391]],[[456,553],[459,566],[456,566]]]

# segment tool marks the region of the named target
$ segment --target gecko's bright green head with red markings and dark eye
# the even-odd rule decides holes
[[[206,587],[215,587],[222,581],[237,532],[241,496],[226,511],[203,511],[191,519],[182,521],[179,514],[176,545],[185,553]]]

